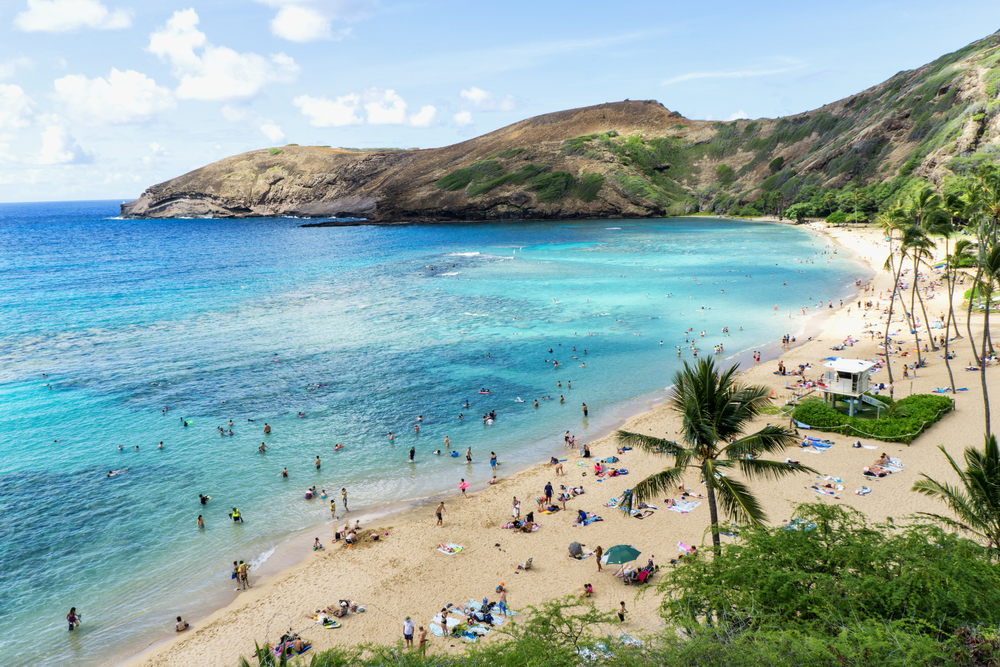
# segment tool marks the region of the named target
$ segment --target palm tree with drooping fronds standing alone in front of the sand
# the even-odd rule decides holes
[[[756,458],[764,453],[782,453],[795,442],[795,435],[786,428],[770,425],[743,435],[750,421],[770,401],[767,387],[737,382],[738,367],[720,371],[709,358],[699,360],[693,367],[684,362],[684,368],[677,371],[670,390],[670,403],[683,414],[683,444],[630,431],[616,433],[622,445],[674,458],[672,467],[636,484],[627,494],[622,509],[627,512],[633,503],[662,497],[677,488],[685,472],[697,470],[708,490],[712,544],[716,553],[721,549],[717,499],[731,520],[753,524],[767,520],[747,484],[729,477],[729,471],[739,470],[750,481],[761,477],[778,479],[793,472],[816,473],[799,464]]]

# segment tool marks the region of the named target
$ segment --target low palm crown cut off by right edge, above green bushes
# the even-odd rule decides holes
[[[994,549],[1000,548],[1000,447],[997,446],[996,436],[985,437],[982,451],[975,447],[965,448],[965,470],[958,466],[944,447],[938,449],[948,457],[952,469],[958,473],[961,486],[942,484],[921,475],[923,479],[913,485],[913,490],[941,500],[958,518],[932,512],[920,514],[973,533]],[[1000,552],[996,555],[1000,556]]]

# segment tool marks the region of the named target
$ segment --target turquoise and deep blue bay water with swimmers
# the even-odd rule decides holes
[[[328,521],[307,487],[346,487],[353,515],[481,484],[490,451],[538,462],[662,392],[685,339],[762,349],[801,330],[803,295],[864,274],[807,230],[703,218],[301,229],[116,210],[0,206],[6,664],[121,660],[232,595],[234,559]],[[472,466],[431,453],[445,435]]]

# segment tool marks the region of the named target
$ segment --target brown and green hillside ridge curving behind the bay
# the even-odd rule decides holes
[[[1000,158],[998,61],[995,33],[780,119],[693,121],[654,101],[626,100],[443,148],[251,151],[155,185],[123,204],[122,215],[646,217],[748,203],[780,209],[845,186],[886,184],[879,196],[888,197],[910,179],[939,181]]]

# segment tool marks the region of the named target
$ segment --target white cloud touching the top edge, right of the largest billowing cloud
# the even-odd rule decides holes
[[[278,13],[271,19],[271,32],[292,42],[343,39],[350,28],[333,30],[334,21],[360,21],[370,16],[377,0],[257,0]]]

